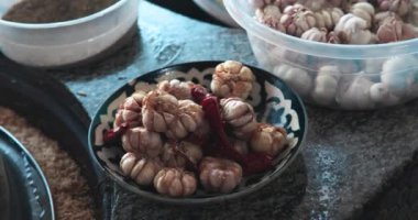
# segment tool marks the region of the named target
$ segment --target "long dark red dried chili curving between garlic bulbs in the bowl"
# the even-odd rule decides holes
[[[218,97],[208,94],[202,87],[194,87],[191,96],[195,101],[201,105],[205,116],[218,138],[220,148],[217,153],[240,163],[245,175],[264,172],[273,167],[273,158],[267,154],[250,153],[243,155],[231,146],[224,131],[224,123],[222,123]]]

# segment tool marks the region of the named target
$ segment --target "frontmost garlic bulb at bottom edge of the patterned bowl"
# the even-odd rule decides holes
[[[155,189],[169,197],[187,197],[196,191],[197,183],[193,173],[179,168],[163,168],[154,178]]]

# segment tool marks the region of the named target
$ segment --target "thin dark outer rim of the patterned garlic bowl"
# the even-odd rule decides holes
[[[132,191],[139,196],[142,196],[142,197],[150,199],[150,200],[154,200],[154,201],[158,201],[158,202],[163,202],[163,204],[170,204],[170,205],[207,205],[207,204],[227,202],[230,200],[235,200],[235,199],[239,199],[241,197],[251,195],[254,191],[260,190],[261,188],[265,187],[266,185],[272,183],[274,179],[276,179],[278,176],[280,176],[283,174],[283,172],[287,168],[287,166],[290,165],[293,163],[293,161],[296,158],[296,156],[300,153],[300,150],[305,144],[306,136],[308,133],[308,116],[306,112],[306,108],[305,108],[305,105],[304,105],[301,98],[299,97],[299,95],[297,92],[295,92],[289,86],[287,86],[287,84],[284,80],[282,80],[277,76],[275,76],[275,75],[273,75],[273,74],[271,74],[264,69],[254,67],[252,65],[248,65],[245,63],[243,63],[243,65],[245,65],[250,69],[252,69],[255,75],[256,75],[256,73],[261,73],[262,75],[271,76],[272,78],[274,78],[274,80],[278,80],[284,86],[284,88],[288,90],[288,94],[294,96],[294,98],[297,100],[298,105],[300,106],[300,111],[301,111],[299,113],[302,116],[302,120],[305,122],[305,128],[301,128],[302,135],[301,135],[300,141],[295,146],[295,148],[296,148],[295,152],[293,154],[290,154],[287,162],[278,170],[275,169],[272,174],[270,174],[270,176],[267,177],[267,180],[258,182],[258,183],[254,184],[252,187],[245,188],[241,191],[231,193],[231,194],[216,195],[216,196],[206,197],[206,198],[187,198],[187,197],[186,198],[170,198],[170,197],[165,197],[163,195],[155,194],[153,191],[140,189],[136,186],[132,186],[132,185],[125,183],[124,180],[121,180],[119,177],[117,177],[112,172],[108,170],[99,162],[99,158],[97,157],[95,150],[94,150],[96,146],[94,143],[94,135],[95,135],[95,128],[97,127],[97,124],[99,124],[100,111],[105,106],[109,105],[110,100],[113,100],[112,98],[114,97],[114,95],[120,94],[123,90],[125,90],[125,87],[129,85],[129,82],[135,81],[135,80],[138,81],[139,79],[146,77],[146,76],[150,76],[150,75],[155,75],[157,77],[157,76],[162,75],[163,73],[167,73],[172,69],[179,69],[182,67],[183,68],[188,67],[188,69],[191,69],[194,67],[201,67],[201,66],[206,66],[206,68],[215,68],[216,65],[223,63],[223,62],[224,61],[200,61],[200,62],[180,63],[180,64],[175,64],[175,65],[157,68],[157,69],[151,70],[151,72],[147,72],[145,74],[142,74],[140,76],[136,76],[136,77],[132,78],[131,80],[128,80],[124,85],[122,85],[118,89],[116,89],[100,105],[100,107],[96,111],[96,113],[91,120],[89,131],[88,131],[88,145],[89,145],[90,157],[92,157],[94,162],[98,165],[99,169],[102,173],[105,173],[105,176],[110,177],[113,182],[116,182],[122,188],[128,189],[129,191]],[[280,90],[283,90],[283,88],[280,88]]]

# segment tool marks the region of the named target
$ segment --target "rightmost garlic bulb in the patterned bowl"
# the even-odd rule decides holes
[[[254,152],[276,156],[288,144],[285,129],[272,124],[258,123],[250,139],[250,147]]]

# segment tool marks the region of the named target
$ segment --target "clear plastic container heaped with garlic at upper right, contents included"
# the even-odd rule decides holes
[[[416,1],[224,0],[248,33],[258,65],[304,101],[344,110],[404,103],[418,97]],[[265,25],[255,11],[278,6],[284,29]],[[276,10],[277,11],[277,10]],[[279,16],[279,18],[278,18]]]

